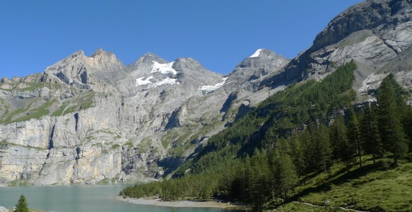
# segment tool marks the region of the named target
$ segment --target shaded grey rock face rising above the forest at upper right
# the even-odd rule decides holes
[[[393,64],[397,56],[411,46],[411,24],[411,1],[373,0],[355,4],[331,20],[310,49],[265,83],[306,78],[321,80],[353,59],[359,67],[353,86],[358,100],[372,99],[382,78],[392,71],[382,73],[380,70]],[[407,74],[397,79],[408,86]]]

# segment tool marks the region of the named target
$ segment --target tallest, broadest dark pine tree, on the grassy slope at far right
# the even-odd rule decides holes
[[[397,83],[389,74],[381,83],[377,92],[379,104],[379,131],[385,150],[394,155],[394,165],[408,152],[404,128],[401,125],[400,104],[403,101],[396,93]]]

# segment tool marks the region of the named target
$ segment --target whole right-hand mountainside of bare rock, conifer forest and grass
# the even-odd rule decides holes
[[[283,91],[211,136],[199,154],[177,168],[174,178],[129,187],[121,195],[139,197],[161,191],[160,198],[165,200],[213,195],[262,211],[288,203],[284,201],[295,194],[293,201],[302,197],[314,204],[331,203],[332,207],[322,208],[325,211],[336,206],[410,211],[405,195],[410,189],[402,187],[411,186],[403,179],[410,166],[411,152],[406,146],[412,143],[408,133],[412,110],[403,102],[411,96],[411,6],[410,1],[394,0],[365,1],[348,8],[319,33],[310,49],[259,82],[261,89],[287,86]],[[384,88],[388,83],[381,85],[384,78],[392,88]],[[381,93],[379,100],[384,89],[392,93],[386,98]],[[388,96],[393,101],[385,107]],[[375,131],[379,139],[374,142],[382,141],[376,146],[383,145],[387,151],[379,153],[376,164],[365,153],[367,146],[356,140],[365,136],[357,131],[356,119],[365,117],[354,111],[366,113],[370,105],[377,105],[370,109],[378,116],[374,127],[384,129]],[[391,117],[391,124],[382,121],[385,117]],[[391,134],[395,136],[388,136],[386,130],[395,126]],[[387,157],[391,163],[392,157],[397,160],[394,149],[406,158],[400,167],[394,162],[392,170]],[[359,168],[358,158],[364,160]],[[298,191],[293,190],[296,184]]]

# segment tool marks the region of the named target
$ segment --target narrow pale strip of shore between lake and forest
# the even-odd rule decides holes
[[[126,198],[118,196],[120,201],[125,201],[131,204],[138,205],[151,205],[151,206],[163,206],[172,208],[223,208],[223,209],[234,209],[234,210],[245,210],[244,206],[240,204],[223,203],[220,201],[192,201],[192,200],[181,200],[181,201],[162,201],[156,196],[151,197],[141,197],[141,198]]]

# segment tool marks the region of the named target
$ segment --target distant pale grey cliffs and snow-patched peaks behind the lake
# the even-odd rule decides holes
[[[0,184],[168,175],[233,121],[245,98],[250,105],[266,98],[251,95],[287,61],[261,50],[224,77],[192,58],[168,62],[147,53],[124,66],[99,49],[90,57],[75,52],[42,74],[3,78]],[[222,110],[230,93],[240,95]]]

